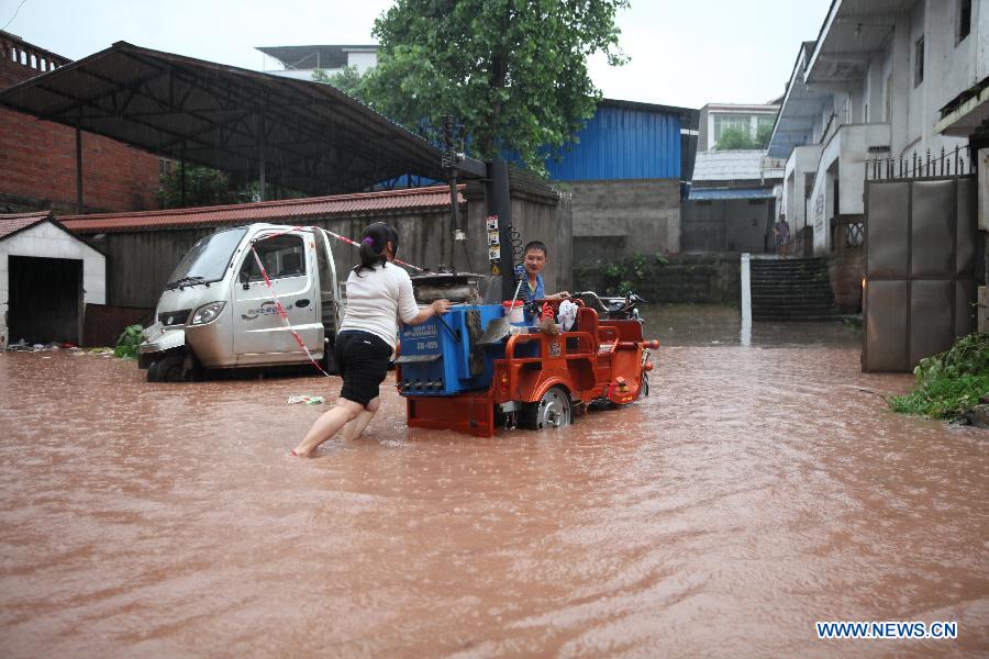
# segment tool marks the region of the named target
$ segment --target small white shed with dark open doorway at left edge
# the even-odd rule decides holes
[[[107,257],[51,211],[0,214],[0,349],[82,340],[86,304],[104,304]]]

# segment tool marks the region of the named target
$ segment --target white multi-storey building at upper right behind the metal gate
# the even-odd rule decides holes
[[[985,77],[984,24],[989,0],[832,2],[800,47],[769,143],[787,160],[781,211],[791,234],[813,232],[814,254],[862,221],[867,160],[967,145],[943,133],[941,109]]]

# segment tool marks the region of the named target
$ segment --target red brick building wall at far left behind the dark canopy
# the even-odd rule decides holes
[[[69,60],[0,33],[0,88]],[[120,142],[82,134],[82,197],[87,212],[158,208],[158,157]],[[0,109],[0,212],[76,209],[76,132]]]

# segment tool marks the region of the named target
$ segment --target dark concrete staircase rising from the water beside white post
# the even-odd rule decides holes
[[[752,320],[831,321],[841,317],[826,258],[756,258],[749,261]]]

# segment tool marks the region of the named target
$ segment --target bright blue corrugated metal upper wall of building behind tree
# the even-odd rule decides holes
[[[603,99],[559,161],[547,163],[559,181],[690,180],[698,111]],[[693,133],[691,135],[691,133]]]

